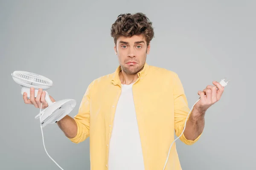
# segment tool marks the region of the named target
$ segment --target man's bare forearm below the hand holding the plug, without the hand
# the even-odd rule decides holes
[[[195,140],[203,132],[204,115],[205,111],[192,110],[183,133],[186,139]]]

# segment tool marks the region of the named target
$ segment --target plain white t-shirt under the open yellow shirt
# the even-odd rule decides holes
[[[109,170],[144,170],[132,85],[122,85],[109,145]]]

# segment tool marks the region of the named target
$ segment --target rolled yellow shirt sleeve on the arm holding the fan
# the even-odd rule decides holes
[[[87,87],[81,100],[79,111],[74,120],[77,125],[77,134],[74,138],[68,138],[71,142],[80,143],[89,137],[90,130],[90,88],[92,83]]]

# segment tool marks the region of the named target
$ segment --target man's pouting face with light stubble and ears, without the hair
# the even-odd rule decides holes
[[[150,44],[147,47],[143,36],[119,37],[116,40],[114,50],[122,71],[125,71],[126,74],[137,74],[146,62]]]

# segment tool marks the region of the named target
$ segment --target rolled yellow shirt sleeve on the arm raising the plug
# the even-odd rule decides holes
[[[174,114],[175,114],[175,133],[176,136],[179,137],[184,129],[184,125],[186,122],[186,118],[190,112],[188,107],[188,102],[186,99],[186,95],[184,93],[183,85],[177,74],[174,75]],[[188,119],[189,120],[189,117]],[[188,145],[192,145],[198,141],[201,137],[201,134],[195,140],[188,140],[184,136],[184,133],[180,136],[180,140]]]

